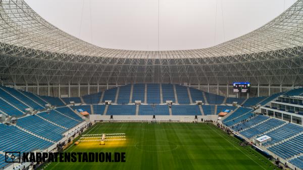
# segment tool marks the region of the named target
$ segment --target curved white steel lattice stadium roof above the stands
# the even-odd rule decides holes
[[[24,1],[0,3],[0,74],[13,83],[303,82],[301,0],[241,37],[180,51],[99,48],[49,24]]]

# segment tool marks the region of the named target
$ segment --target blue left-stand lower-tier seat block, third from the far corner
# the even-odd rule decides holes
[[[67,131],[36,115],[17,119],[17,125],[33,134],[56,142],[60,141],[63,138],[62,134]]]

